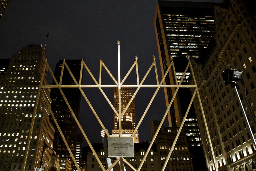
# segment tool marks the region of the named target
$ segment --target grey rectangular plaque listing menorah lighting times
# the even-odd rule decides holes
[[[109,137],[109,157],[134,157],[133,137]]]

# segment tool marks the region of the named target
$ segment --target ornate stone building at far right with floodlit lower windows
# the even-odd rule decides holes
[[[209,171],[255,170],[256,153],[242,115],[244,108],[255,137],[255,2],[224,1],[222,6],[215,6],[215,18],[216,46],[205,54],[206,60],[192,59],[207,123],[204,123],[199,102],[195,101],[207,168]],[[223,82],[222,72],[226,68],[243,71],[246,92],[242,83],[238,83],[243,106],[234,88]]]

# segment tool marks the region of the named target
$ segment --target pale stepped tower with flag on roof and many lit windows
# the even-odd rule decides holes
[[[30,137],[31,121],[39,92],[41,74],[46,62],[41,45],[28,45],[19,50],[10,60],[0,86],[0,170],[21,170],[27,143]],[[43,84],[47,84],[45,78]],[[44,89],[50,104],[50,89]],[[42,156],[43,142],[53,146],[54,127],[49,122],[49,109],[45,101],[39,99],[35,123],[28,150],[26,170],[39,167],[41,157],[49,170],[52,151],[46,149]]]

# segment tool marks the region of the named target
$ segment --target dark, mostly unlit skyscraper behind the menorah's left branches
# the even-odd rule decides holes
[[[56,80],[60,81],[61,69],[63,60],[59,60],[56,65],[54,75]],[[80,69],[81,69],[81,60],[65,60],[69,69],[71,70],[73,76],[77,81],[79,81],[80,77]],[[63,70],[63,77],[62,77],[62,85],[71,85],[75,84],[74,80],[72,79],[70,73],[68,72],[67,68],[65,67]],[[55,85],[55,82],[53,82]],[[80,109],[80,99],[81,99],[81,92],[78,88],[62,88],[65,97],[67,98],[70,107],[72,108],[74,114],[76,115],[77,119],[79,118],[79,109]],[[72,92],[72,93],[70,93]],[[63,99],[60,91],[58,88],[51,89],[52,105],[51,110],[54,113],[54,116],[60,126],[60,129],[73,153],[76,154],[76,140],[77,140],[77,123],[74,120],[65,100]],[[50,117],[50,121],[55,126],[52,117]],[[55,126],[56,127],[56,126]],[[67,147],[62,140],[62,137],[56,127],[55,129],[55,137],[54,137],[54,151],[56,154],[59,154],[60,157],[67,157],[69,158],[71,165],[73,165],[73,160],[70,157],[70,154],[67,150]]]

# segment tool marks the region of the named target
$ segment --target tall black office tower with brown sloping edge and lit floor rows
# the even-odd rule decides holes
[[[162,76],[172,60],[175,66],[175,70],[171,68],[169,71],[164,83],[175,85],[180,82],[185,71],[188,63],[187,57],[200,58],[200,50],[206,49],[214,36],[213,3],[158,1],[154,25]],[[190,70],[186,72],[182,85],[188,84],[189,75]],[[174,88],[165,88],[167,106],[174,92]],[[190,100],[190,89],[180,88],[168,113],[169,127],[180,126]],[[190,108],[184,125],[194,170],[198,170],[196,167],[202,167],[202,165],[205,170],[201,137],[193,108]]]

